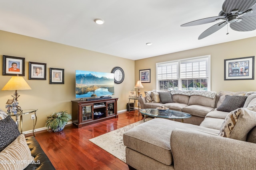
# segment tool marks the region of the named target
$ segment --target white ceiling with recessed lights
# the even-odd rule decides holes
[[[224,0],[0,0],[0,30],[132,60],[256,36],[216,23],[180,25],[218,16]],[[101,18],[103,25],[94,23]],[[221,21],[220,21],[221,22]],[[151,42],[151,46],[146,43]]]

